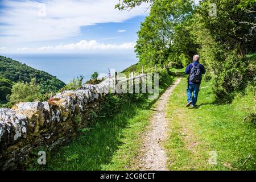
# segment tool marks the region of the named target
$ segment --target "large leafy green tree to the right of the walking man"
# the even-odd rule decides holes
[[[217,16],[209,16],[209,5],[215,3]],[[235,90],[243,90],[253,80],[254,63],[246,54],[255,52],[255,30],[249,24],[255,22],[255,1],[205,0],[196,7],[188,30],[199,45],[201,61],[213,77],[217,97],[231,96]],[[195,28],[196,27],[196,28]]]

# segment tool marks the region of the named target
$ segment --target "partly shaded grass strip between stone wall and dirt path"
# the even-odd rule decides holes
[[[172,82],[168,76],[160,85],[162,93]],[[46,166],[32,165],[31,170],[125,170],[133,169],[135,157],[141,149],[150,109],[155,101],[146,96],[137,102],[121,105],[112,117],[99,118],[91,128],[54,155],[48,154]]]

